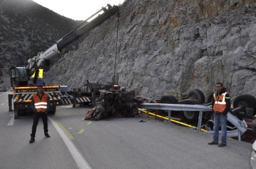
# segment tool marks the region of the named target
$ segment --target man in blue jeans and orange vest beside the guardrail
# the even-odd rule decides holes
[[[208,144],[218,144],[218,129],[221,124],[222,137],[218,146],[222,147],[227,145],[227,112],[231,107],[230,96],[222,83],[216,83],[216,92],[213,94],[213,98],[213,141]]]

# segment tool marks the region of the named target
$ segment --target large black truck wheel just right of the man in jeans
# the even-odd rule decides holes
[[[256,99],[250,94],[242,94],[235,97],[233,101],[233,107],[237,108],[239,106],[244,106],[245,108],[253,108],[253,115],[256,114]]]

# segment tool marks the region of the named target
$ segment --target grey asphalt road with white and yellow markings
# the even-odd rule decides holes
[[[144,116],[84,121],[88,108],[71,106],[49,116],[51,138],[40,120],[29,144],[32,116],[12,121],[7,99],[0,93],[1,168],[251,168],[250,143],[210,146],[210,134]]]

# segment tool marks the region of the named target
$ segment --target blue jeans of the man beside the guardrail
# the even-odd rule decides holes
[[[222,144],[227,144],[227,115],[217,115],[213,114],[214,124],[213,124],[213,142],[218,143],[218,129],[221,124],[222,131]]]

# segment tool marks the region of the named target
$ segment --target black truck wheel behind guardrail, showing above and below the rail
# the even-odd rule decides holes
[[[202,104],[202,103],[200,103],[200,101],[195,99],[186,99],[186,100],[180,101],[180,104]],[[184,119],[189,123],[198,122],[198,116],[199,116],[198,111],[182,111],[180,112],[180,115],[182,119]]]

